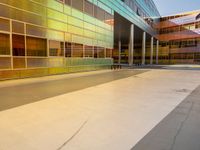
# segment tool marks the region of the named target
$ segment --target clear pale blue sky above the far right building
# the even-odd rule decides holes
[[[200,10],[200,0],[154,0],[161,16]]]

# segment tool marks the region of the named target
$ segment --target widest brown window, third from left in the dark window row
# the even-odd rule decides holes
[[[26,37],[27,56],[47,56],[47,40]]]

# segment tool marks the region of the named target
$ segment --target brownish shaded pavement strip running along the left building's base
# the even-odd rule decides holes
[[[0,85],[0,111],[127,78],[146,71],[147,70],[97,71],[5,81]]]

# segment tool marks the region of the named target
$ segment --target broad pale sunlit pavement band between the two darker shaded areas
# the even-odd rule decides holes
[[[199,85],[198,70],[157,69],[2,109],[0,150],[130,150]]]

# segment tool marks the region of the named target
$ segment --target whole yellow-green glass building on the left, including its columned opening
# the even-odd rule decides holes
[[[0,79],[158,63],[152,0],[0,0]]]

